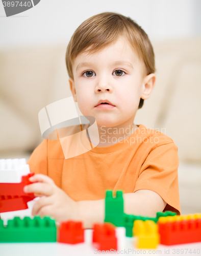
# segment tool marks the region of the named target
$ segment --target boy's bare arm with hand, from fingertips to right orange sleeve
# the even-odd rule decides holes
[[[33,215],[52,216],[57,221],[79,220],[85,228],[91,228],[95,222],[104,222],[105,199],[93,201],[74,201],[54,181],[46,175],[36,174],[29,178],[30,185],[23,188],[25,193],[44,196],[38,200],[32,210]],[[126,214],[155,217],[166,203],[154,191],[139,189],[135,193],[123,195]]]

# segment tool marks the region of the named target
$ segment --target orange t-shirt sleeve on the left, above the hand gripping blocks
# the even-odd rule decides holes
[[[28,162],[31,172],[47,175],[47,140],[44,139],[33,151]]]

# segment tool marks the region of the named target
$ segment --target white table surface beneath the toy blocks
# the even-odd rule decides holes
[[[201,242],[172,246],[159,245],[157,249],[137,249],[134,246],[134,238],[122,237],[121,228],[117,228],[117,237],[120,244],[119,251],[108,253],[109,255],[190,255],[201,256]],[[120,232],[119,232],[120,231]],[[105,255],[94,250],[92,243],[92,230],[85,230],[85,242],[80,244],[64,243],[0,243],[1,256],[90,256]],[[130,250],[129,250],[130,249]],[[191,252],[190,252],[191,249]],[[134,251],[133,251],[134,250]],[[193,253],[195,250],[196,253]],[[183,253],[182,253],[183,251]],[[169,252],[169,253],[168,253]]]

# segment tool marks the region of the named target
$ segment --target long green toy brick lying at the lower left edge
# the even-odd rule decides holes
[[[56,242],[55,221],[48,217],[15,217],[6,227],[1,221],[0,242]]]

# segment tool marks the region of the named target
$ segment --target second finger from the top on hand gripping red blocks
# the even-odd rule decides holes
[[[51,196],[54,193],[54,187],[46,183],[32,183],[23,187],[24,193],[35,193],[43,196]]]

